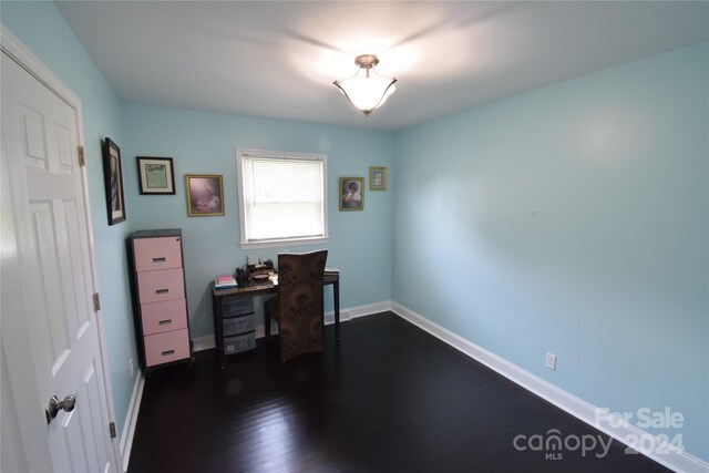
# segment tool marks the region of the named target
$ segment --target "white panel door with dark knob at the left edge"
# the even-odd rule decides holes
[[[4,213],[11,207],[12,215],[7,217],[13,227],[13,235],[7,238],[12,245],[6,245],[3,235],[3,251],[16,251],[18,261],[3,267],[2,305],[4,309],[16,302],[19,308],[10,313],[3,310],[3,329],[25,323],[29,335],[29,340],[17,340],[9,337],[22,333],[3,331],[2,343],[3,351],[14,343],[28,345],[27,376],[35,378],[38,394],[32,398],[38,405],[37,415],[20,419],[20,423],[37,426],[42,422],[45,429],[44,439],[29,439],[38,444],[25,444],[24,450],[28,456],[33,449],[49,451],[55,472],[116,471],[92,301],[86,209],[78,163],[79,116],[4,51],[1,71],[2,171],[8,173],[2,181],[10,185],[11,200],[2,208]],[[6,195],[3,192],[3,198]],[[20,294],[8,295],[6,284],[21,288]],[[7,296],[21,300],[6,301]],[[10,318],[7,325],[4,318]],[[17,401],[17,391],[14,394]],[[75,397],[75,409],[60,411],[48,423],[43,412],[50,398],[63,400],[68,394]]]

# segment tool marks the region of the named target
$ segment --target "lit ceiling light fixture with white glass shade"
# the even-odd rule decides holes
[[[356,109],[369,116],[394,93],[397,79],[381,76],[374,71],[374,65],[379,64],[374,54],[358,55],[354,58],[354,64],[359,66],[357,74],[342,82],[335,81],[333,84]]]

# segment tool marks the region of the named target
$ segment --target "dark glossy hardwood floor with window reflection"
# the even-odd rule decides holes
[[[326,338],[325,353],[288,363],[259,340],[226,369],[208,350],[154,372],[129,471],[667,471],[615,441],[607,454],[531,450],[553,429],[609,440],[393,313],[343,323],[339,347],[332,326]]]

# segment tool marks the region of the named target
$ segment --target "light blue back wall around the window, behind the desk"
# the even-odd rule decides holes
[[[215,276],[234,273],[247,254],[277,260],[278,248],[245,253],[238,246],[237,148],[327,153],[330,241],[288,248],[329,250],[328,265],[342,271],[342,309],[390,300],[393,192],[366,189],[363,212],[339,212],[337,194],[340,176],[366,177],[369,166],[393,171],[391,134],[138,105],[126,106],[124,130],[131,137],[122,151],[134,228],[183,229],[193,338],[214,333],[209,282]],[[140,195],[135,156],[172,157],[176,195]],[[187,216],[185,174],[224,176],[225,216]]]

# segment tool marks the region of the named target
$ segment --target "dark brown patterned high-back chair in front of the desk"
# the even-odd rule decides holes
[[[322,279],[328,251],[278,255],[278,295],[266,301],[266,336],[278,322],[280,359],[323,350]]]

